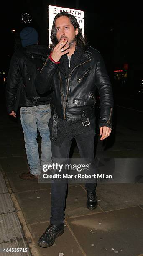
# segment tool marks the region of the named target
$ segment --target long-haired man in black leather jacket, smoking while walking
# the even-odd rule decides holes
[[[51,40],[51,54],[36,77],[36,89],[39,93],[54,89],[49,120],[52,157],[67,159],[75,138],[81,158],[94,162],[96,89],[100,96],[100,139],[110,136],[112,129],[112,86],[104,61],[99,51],[87,45],[77,19],[69,13],[55,16]],[[97,207],[95,182],[85,184],[90,210]],[[41,247],[51,246],[64,232],[65,196],[66,182],[53,182],[50,225],[38,240]]]

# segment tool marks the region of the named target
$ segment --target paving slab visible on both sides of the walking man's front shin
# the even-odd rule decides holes
[[[51,216],[51,189],[42,189],[35,191],[25,191],[15,193],[17,200],[23,210],[26,223],[37,223],[49,221]],[[91,210],[86,206],[87,195],[80,186],[68,187],[66,199],[65,218],[91,214]],[[101,212],[97,207],[93,212]]]

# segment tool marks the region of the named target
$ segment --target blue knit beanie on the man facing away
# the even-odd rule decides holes
[[[34,28],[31,27],[23,28],[23,30],[20,32],[20,38],[23,47],[38,43],[38,33]]]

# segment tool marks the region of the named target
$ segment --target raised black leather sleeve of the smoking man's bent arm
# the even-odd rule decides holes
[[[52,78],[58,65],[47,58],[43,68],[35,79],[36,90],[39,94],[44,94],[51,90]]]

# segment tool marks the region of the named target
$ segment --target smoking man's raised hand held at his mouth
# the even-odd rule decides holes
[[[64,54],[69,53],[69,50],[66,50],[69,48],[69,44],[67,44],[67,40],[62,39],[53,49],[51,57],[54,61],[58,62],[61,59],[61,56]]]

